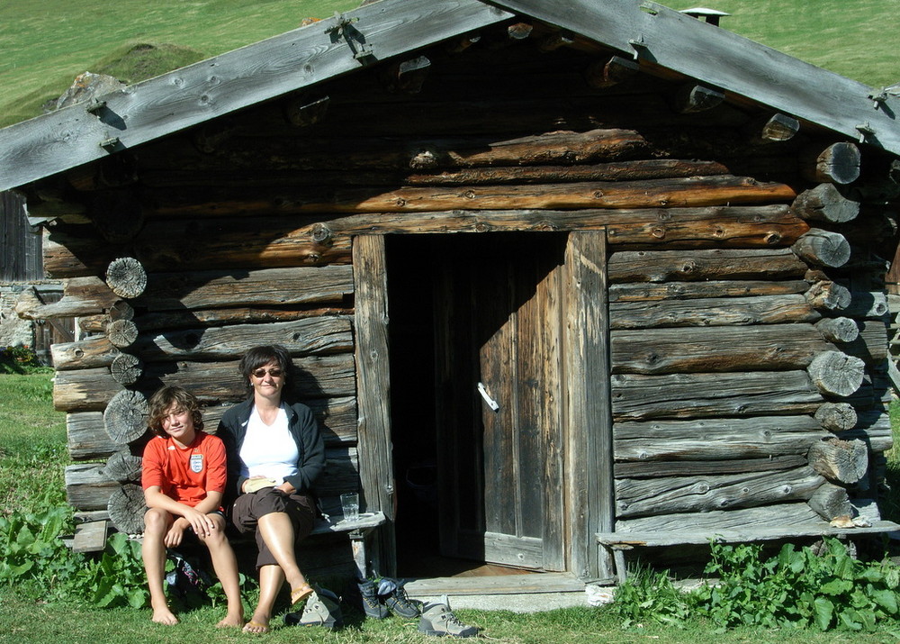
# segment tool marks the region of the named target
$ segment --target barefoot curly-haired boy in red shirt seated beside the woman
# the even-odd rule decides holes
[[[166,603],[163,577],[166,548],[177,547],[188,531],[210,550],[228,612],[219,627],[240,628],[238,562],[225,537],[220,503],[225,491],[225,447],[221,439],[204,433],[200,404],[181,387],[166,386],[150,398],[148,426],[156,436],[144,449],[141,485],[149,508],[144,514],[141,550],[153,621],[178,623]]]

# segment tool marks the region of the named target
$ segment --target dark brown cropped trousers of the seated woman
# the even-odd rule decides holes
[[[307,494],[284,494],[275,487],[264,487],[257,492],[241,494],[234,502],[231,521],[241,534],[253,533],[257,540],[257,568],[276,565],[275,557],[257,531],[259,517],[271,512],[284,512],[293,525],[294,547],[306,539],[315,522],[315,503]]]

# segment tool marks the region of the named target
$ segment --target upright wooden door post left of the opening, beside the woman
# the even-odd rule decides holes
[[[356,293],[356,396],[359,404],[359,477],[367,512],[381,511],[382,575],[397,565],[391,449],[391,376],[388,347],[387,267],[382,235],[353,240]]]

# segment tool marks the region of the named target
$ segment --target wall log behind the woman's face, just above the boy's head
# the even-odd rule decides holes
[[[317,399],[356,394],[350,354],[294,358],[294,364],[300,376],[292,395]],[[162,385],[183,386],[204,403],[237,403],[247,394],[237,361],[148,363],[137,388],[152,394]],[[60,371],[53,386],[53,404],[60,412],[101,411],[120,391],[121,385],[107,368]]]

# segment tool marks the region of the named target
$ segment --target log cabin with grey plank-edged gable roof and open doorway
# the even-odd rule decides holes
[[[898,112],[653,2],[380,0],[5,128],[68,500],[139,531],[148,395],[278,342],[372,520],[313,576],[895,531]]]

